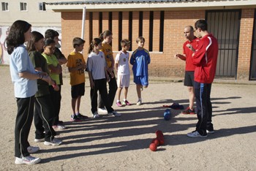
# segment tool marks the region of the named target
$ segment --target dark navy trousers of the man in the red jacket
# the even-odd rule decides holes
[[[194,82],[195,101],[197,103],[197,125],[196,130],[201,135],[206,135],[206,129],[214,130],[211,123],[212,107],[211,107],[211,83]]]

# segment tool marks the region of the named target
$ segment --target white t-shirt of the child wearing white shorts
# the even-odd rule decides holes
[[[116,55],[118,61],[118,75],[129,75],[129,53],[125,54],[122,50]]]

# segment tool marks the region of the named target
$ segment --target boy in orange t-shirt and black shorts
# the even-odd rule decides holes
[[[71,85],[71,107],[72,115],[71,120],[78,122],[81,119],[88,119],[86,115],[79,113],[80,99],[84,95],[85,91],[85,75],[84,69],[87,68],[86,62],[83,59],[83,55],[79,52],[83,50],[84,43],[83,39],[75,37],[73,39],[74,50],[67,57],[67,67],[69,68],[70,85]]]

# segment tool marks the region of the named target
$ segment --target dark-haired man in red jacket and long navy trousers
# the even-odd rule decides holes
[[[214,133],[211,123],[211,83],[214,81],[217,57],[218,41],[207,31],[206,20],[197,20],[195,34],[200,38],[196,49],[191,44],[187,45],[194,52],[192,64],[196,65],[194,75],[195,101],[197,104],[197,125],[194,132],[187,134],[188,137],[207,137]]]

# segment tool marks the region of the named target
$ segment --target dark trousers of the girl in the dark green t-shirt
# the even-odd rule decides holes
[[[53,141],[56,132],[53,129],[53,103],[50,94],[36,97],[34,102],[34,126],[36,139],[45,138],[45,141]],[[45,131],[45,134],[43,133]]]

